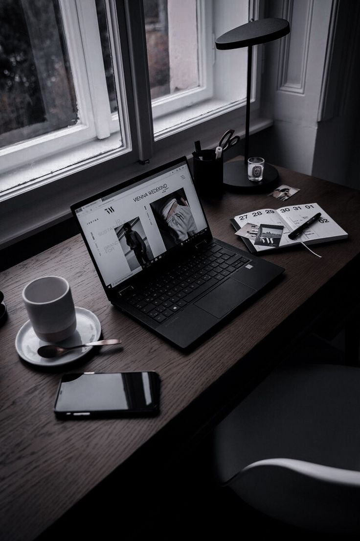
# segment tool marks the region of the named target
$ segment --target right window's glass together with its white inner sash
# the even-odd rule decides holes
[[[212,0],[144,0],[153,117],[212,95]]]

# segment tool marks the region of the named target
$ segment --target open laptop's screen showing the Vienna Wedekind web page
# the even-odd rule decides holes
[[[207,228],[186,161],[74,209],[106,287]]]

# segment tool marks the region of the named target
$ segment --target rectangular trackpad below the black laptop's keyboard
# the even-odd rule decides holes
[[[194,304],[220,319],[254,293],[256,289],[229,278]]]

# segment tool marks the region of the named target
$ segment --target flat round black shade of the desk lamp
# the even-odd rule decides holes
[[[289,32],[290,25],[285,19],[259,19],[225,32],[216,39],[215,44],[216,49],[239,49],[279,39]]]

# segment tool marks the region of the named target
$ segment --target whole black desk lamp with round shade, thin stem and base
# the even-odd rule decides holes
[[[259,19],[251,20],[241,27],[229,30],[216,39],[216,49],[240,49],[248,48],[248,75],[246,89],[246,124],[245,124],[245,148],[244,161],[228,162],[224,164],[225,187],[241,192],[258,192],[270,189],[279,176],[275,167],[265,163],[262,181],[252,182],[248,179],[247,161],[249,157],[249,123],[250,123],[250,94],[252,78],[253,45],[267,43],[274,39],[286,36],[290,32],[290,26],[285,19]]]

